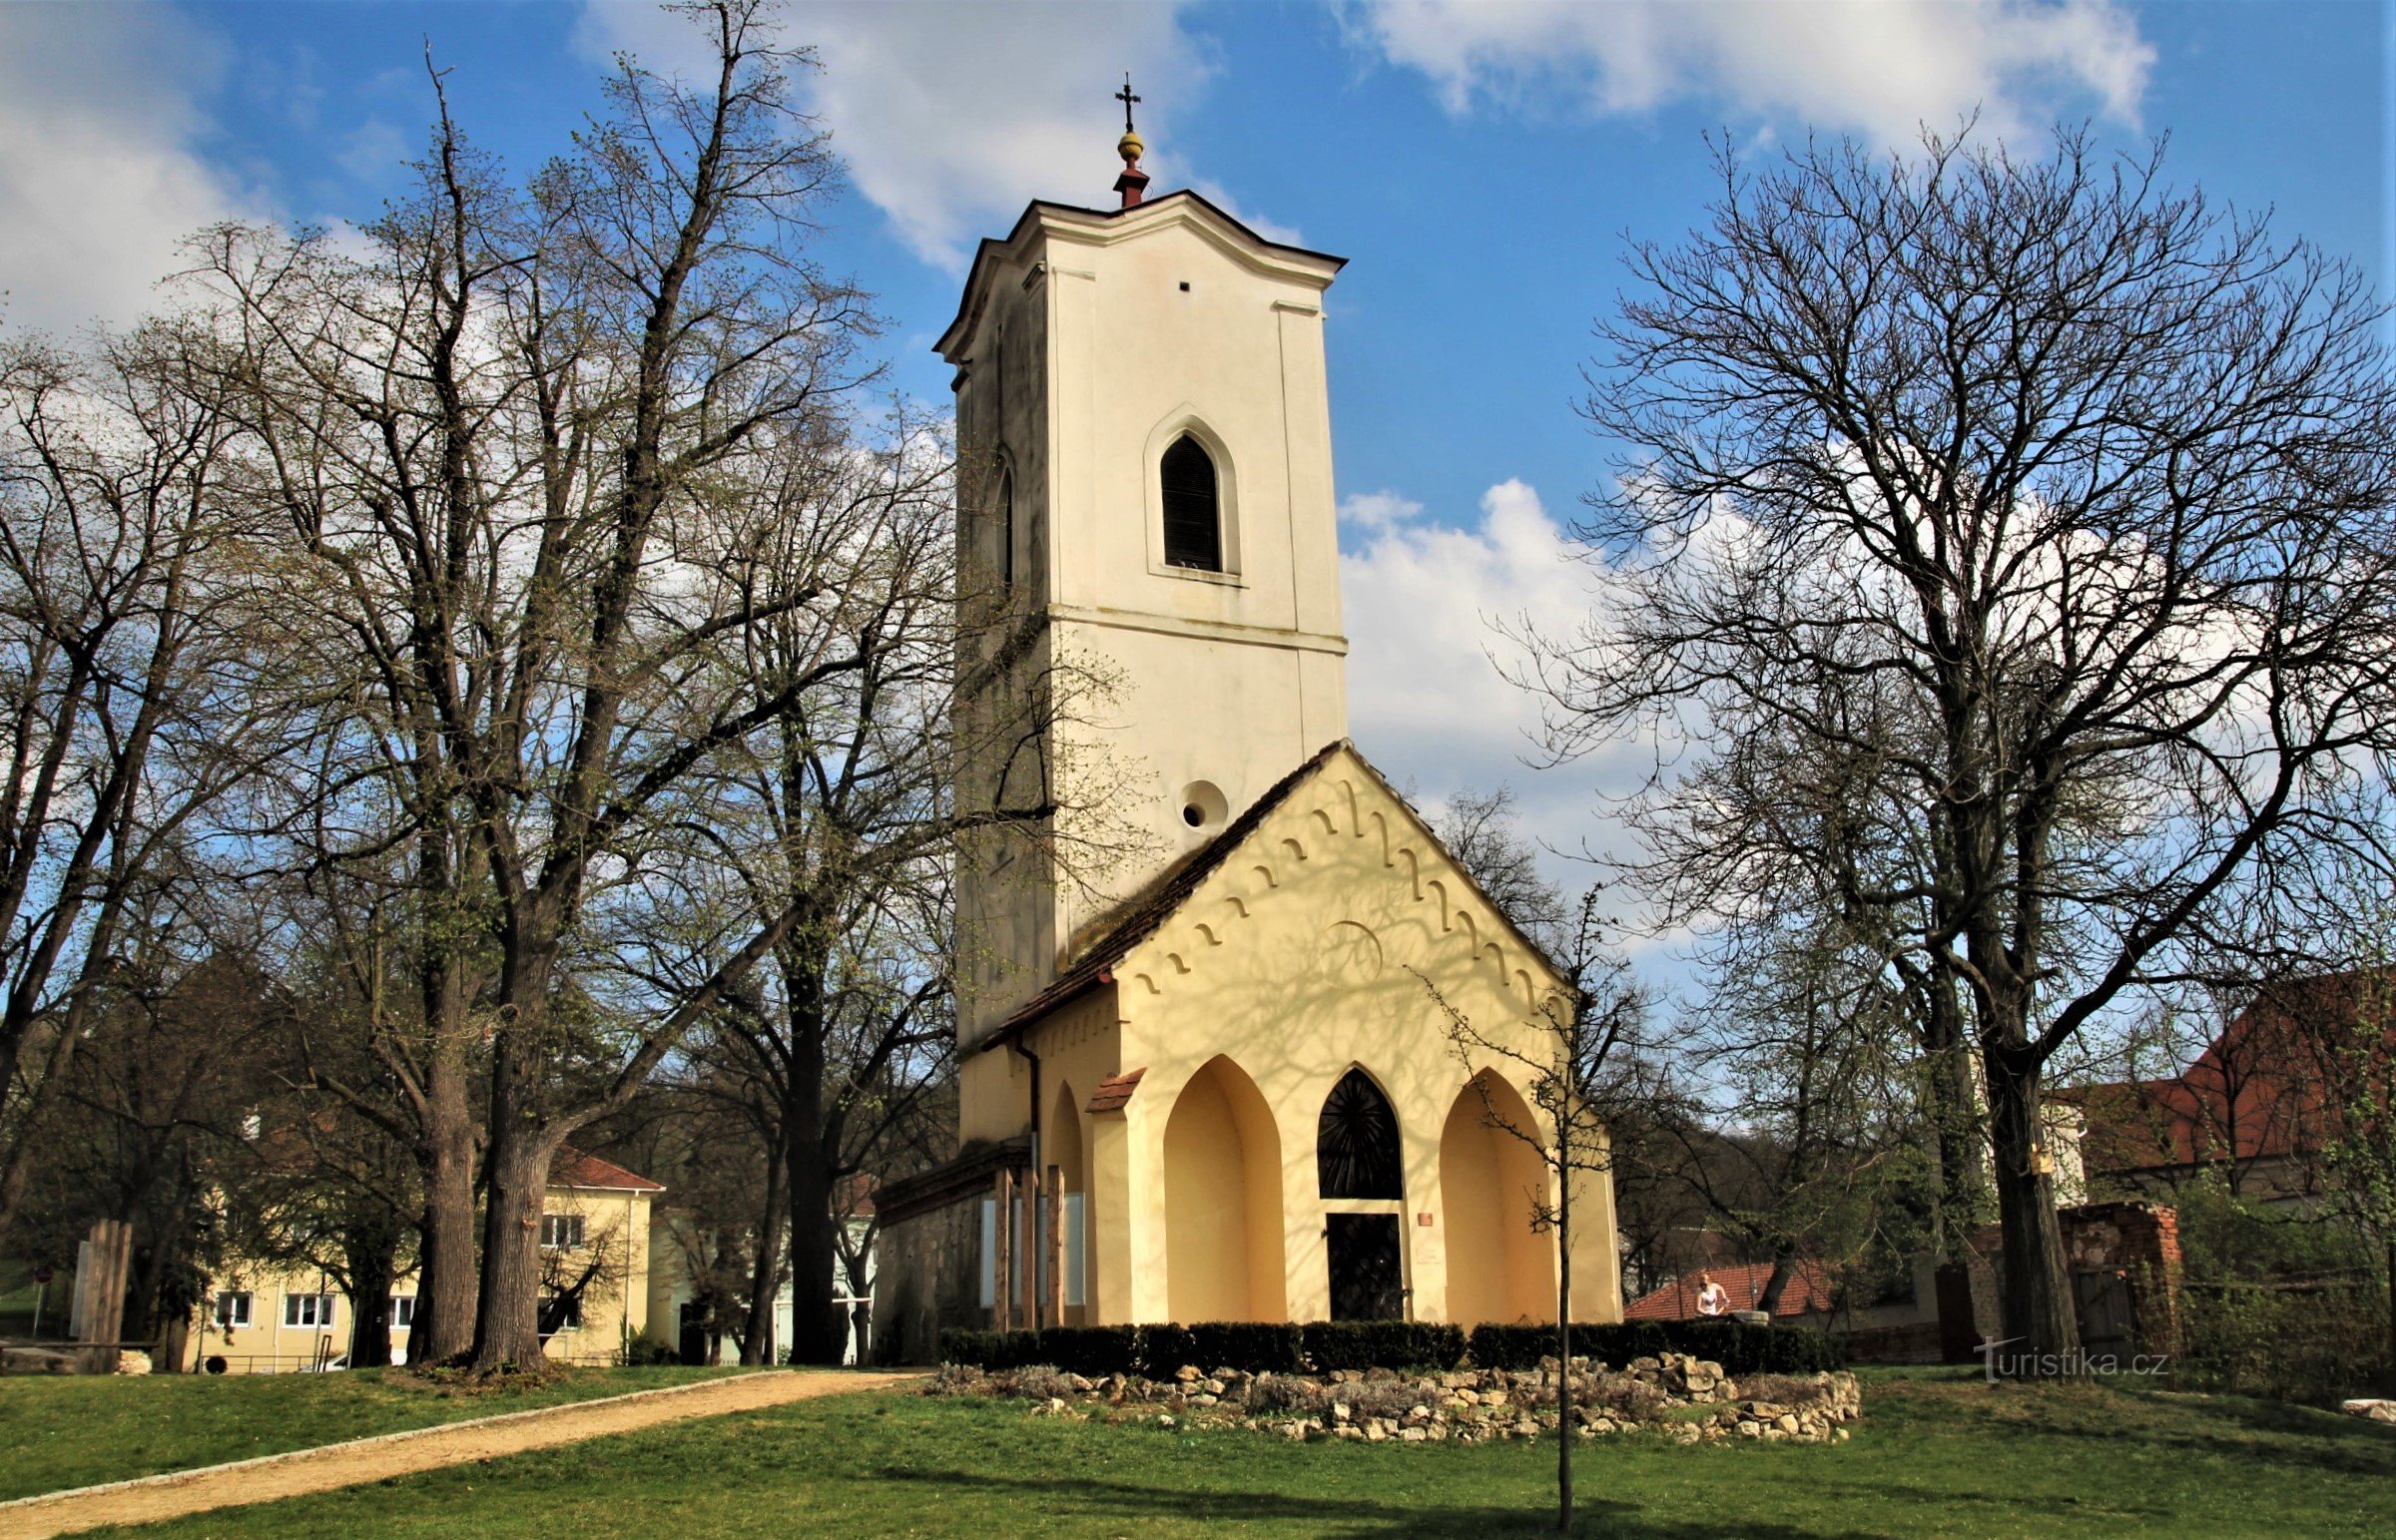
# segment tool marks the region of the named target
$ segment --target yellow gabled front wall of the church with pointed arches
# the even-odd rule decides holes
[[[1426,989],[1543,1054],[1533,1001],[1553,977],[1361,759],[1342,750],[1299,786],[1114,980],[1028,1035],[1047,1085],[1069,1080],[1083,1102],[1097,1078],[1145,1071],[1121,1114],[1076,1128],[1093,1181],[1090,1320],[1186,1322],[1234,1303],[1236,1315],[1327,1317],[1323,1214],[1390,1207],[1318,1193],[1315,1121],[1351,1066],[1399,1123],[1411,1315],[1553,1317],[1555,1241],[1531,1229],[1541,1164],[1486,1126],[1471,1087],[1476,1073],[1500,1078],[1498,1102],[1526,1118],[1524,1068],[1466,1066]],[[1023,1133],[1021,1059],[978,1054],[963,1078],[970,1128]],[[1267,1145],[1270,1162],[1253,1154]],[[1613,1183],[1584,1174],[1574,1205],[1577,1315],[1613,1320]],[[1275,1221],[1279,1248],[1256,1233]],[[1279,1277],[1258,1279],[1275,1250]],[[1454,1296],[1452,1253],[1474,1257]]]

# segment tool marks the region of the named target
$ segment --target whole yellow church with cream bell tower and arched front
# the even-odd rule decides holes
[[[1119,148],[1121,206],[1033,204],[939,340],[968,625],[1014,635],[961,695],[961,783],[1057,812],[961,850],[961,1154],[882,1188],[875,1356],[997,1322],[1553,1320],[1545,1166],[1493,1126],[1536,1126],[1526,1087],[1440,999],[1538,1054],[1557,972],[1344,738],[1342,259],[1143,199]],[[1018,752],[992,723],[1069,671],[1112,692]],[[1603,1176],[1574,1231],[1584,1317],[1620,1315]]]

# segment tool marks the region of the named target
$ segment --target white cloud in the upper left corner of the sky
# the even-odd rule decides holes
[[[0,5],[7,331],[132,321],[184,235],[264,208],[194,148],[223,62],[163,5]]]

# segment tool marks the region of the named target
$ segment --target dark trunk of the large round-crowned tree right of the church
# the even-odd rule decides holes
[[[1998,1372],[2044,1380],[2080,1372],[2080,1322],[2056,1224],[2056,1186],[2039,1138],[2039,1066],[2022,1047],[1986,1047],[1989,1135],[1996,1157],[1996,1221],[2003,1231],[2003,1332]]]

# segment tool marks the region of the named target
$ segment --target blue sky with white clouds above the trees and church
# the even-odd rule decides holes
[[[1490,613],[1569,623],[1562,560],[1605,474],[1577,422],[1622,237],[1708,196],[1708,129],[1895,144],[1977,110],[2037,139],[2171,134],[2171,175],[2274,206],[2391,285],[2396,17],[2367,0],[1850,0],[1843,5],[793,5],[807,91],[848,156],[819,256],[879,295],[898,388],[946,393],[930,340],[963,259],[1030,196],[1102,204],[1124,69],[1155,189],[1351,259],[1330,366],[1354,735],[1426,800],[1512,781],[1555,843],[1608,843],[1593,793],[1636,762],[1531,774]],[[115,321],[173,237],[247,216],[340,223],[424,134],[424,48],[467,132],[558,151],[613,48],[671,65],[645,5],[0,5],[5,326]],[[1502,651],[1502,649],[1500,649]]]

